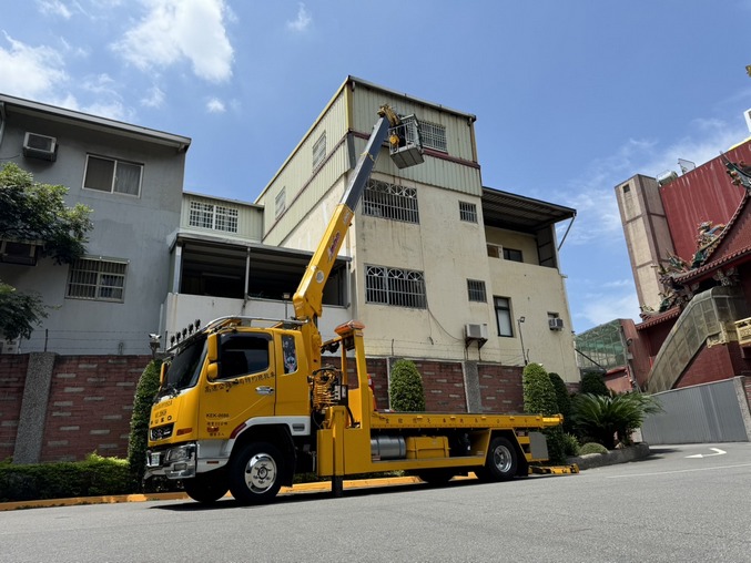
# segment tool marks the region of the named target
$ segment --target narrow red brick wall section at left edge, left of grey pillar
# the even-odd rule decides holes
[[[0,460],[13,455],[29,355],[0,356]]]

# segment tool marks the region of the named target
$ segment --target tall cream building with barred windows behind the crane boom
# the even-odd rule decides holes
[[[425,162],[382,150],[343,246],[368,354],[537,361],[577,381],[555,236],[576,212],[484,186],[475,115],[348,76],[258,196],[263,243],[315,248],[384,103],[416,115]]]

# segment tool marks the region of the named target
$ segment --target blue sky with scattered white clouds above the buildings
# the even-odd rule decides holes
[[[615,186],[750,135],[750,22],[751,0],[4,0],[0,92],[190,136],[184,190],[246,202],[347,75],[475,114],[485,186],[577,209],[580,334],[639,318]]]

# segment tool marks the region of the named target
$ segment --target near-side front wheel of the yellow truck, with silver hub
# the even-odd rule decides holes
[[[243,504],[270,502],[282,487],[284,461],[271,443],[250,443],[230,463],[230,491]]]

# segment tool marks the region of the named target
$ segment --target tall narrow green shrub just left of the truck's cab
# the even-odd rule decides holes
[[[133,399],[131,413],[131,431],[128,442],[128,463],[133,482],[141,488],[143,473],[146,469],[146,447],[149,444],[149,419],[151,406],[159,391],[159,375],[162,360],[152,360],[141,373]]]

